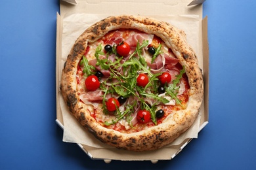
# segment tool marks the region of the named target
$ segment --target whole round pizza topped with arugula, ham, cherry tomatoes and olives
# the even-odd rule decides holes
[[[196,120],[202,70],[184,31],[146,16],[110,16],[70,50],[63,99],[96,139],[116,148],[161,148]]]

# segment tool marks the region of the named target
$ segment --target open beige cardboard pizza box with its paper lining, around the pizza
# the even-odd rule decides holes
[[[202,18],[203,0],[62,0],[57,13],[56,34],[56,123],[64,130],[63,141],[77,143],[92,159],[104,160],[171,160],[208,123],[209,50],[207,42],[207,17]],[[165,20],[183,29],[188,43],[194,48],[203,71],[204,99],[200,115],[194,125],[173,143],[158,150],[131,152],[101,143],[87,132],[68,112],[60,94],[60,77],[64,61],[75,40],[87,27],[107,16],[140,14]],[[200,135],[199,135],[200,136]]]

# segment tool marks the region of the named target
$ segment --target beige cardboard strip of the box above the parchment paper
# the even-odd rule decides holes
[[[75,1],[77,5],[66,3],[67,1]],[[62,16],[66,13],[74,12],[110,15],[140,14],[147,16],[195,14],[202,18],[202,5],[200,5],[202,2],[202,0],[194,0],[192,2],[191,0],[62,0],[60,1],[60,14]]]

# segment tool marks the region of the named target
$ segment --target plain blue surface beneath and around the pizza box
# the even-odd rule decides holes
[[[256,169],[256,1],[207,0],[209,124],[171,161],[91,160],[54,122],[54,0],[0,3],[0,169]]]

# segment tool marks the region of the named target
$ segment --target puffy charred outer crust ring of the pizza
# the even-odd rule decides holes
[[[120,28],[135,28],[160,37],[173,50],[181,65],[185,66],[190,84],[188,106],[186,109],[175,112],[175,114],[167,117],[158,126],[129,134],[100,126],[91,116],[90,106],[79,102],[79,95],[76,92],[77,82],[75,76],[77,64],[83,56],[87,44],[97,41],[108,31]],[[89,27],[75,41],[64,64],[60,90],[70,112],[97,139],[117,148],[144,151],[161,148],[171,143],[192,126],[198,116],[203,99],[203,78],[196,54],[186,42],[184,31],[173,27],[173,25],[167,22],[161,22],[145,16],[110,16]]]

